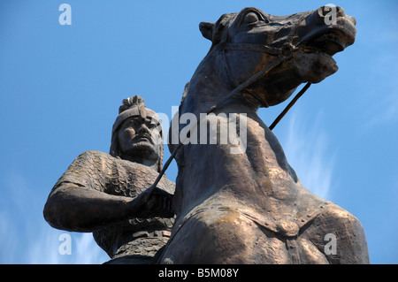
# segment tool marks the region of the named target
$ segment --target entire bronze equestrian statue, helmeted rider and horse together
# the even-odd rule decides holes
[[[135,96],[120,108],[111,155],[76,158],[50,193],[46,220],[94,232],[109,263],[369,263],[359,220],[302,186],[273,124],[257,115],[337,71],[333,55],[355,42],[356,19],[334,12],[330,21],[325,7],[289,16],[245,8],[201,23],[212,45],[177,116],[197,123],[188,132],[171,126],[171,136],[186,133],[169,144],[179,168],[174,195],[161,178],[170,162],[162,169],[158,119]],[[218,129],[238,120],[237,136],[221,142]],[[195,125],[215,135],[203,142]],[[333,251],[325,248],[330,238]]]

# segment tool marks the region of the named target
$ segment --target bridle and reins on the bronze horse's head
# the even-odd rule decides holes
[[[224,71],[226,72],[227,79],[233,86],[235,86],[236,83],[233,80],[233,77],[231,75],[231,72],[229,71],[228,65],[226,64],[226,50],[262,52],[262,53],[266,53],[266,54],[278,56],[278,57],[273,58],[271,60],[271,62],[269,62],[266,66],[264,66],[264,68],[262,70],[260,70],[259,72],[256,72],[248,80],[243,81],[241,84],[239,84],[238,86],[233,88],[233,90],[228,95],[226,95],[224,98],[219,100],[218,103],[216,103],[215,105],[211,106],[209,111],[206,112],[206,116],[209,115],[211,112],[221,109],[223,104],[226,103],[227,100],[231,99],[234,95],[238,95],[239,93],[241,93],[242,90],[244,90],[245,88],[248,88],[251,84],[256,82],[256,80],[259,80],[262,77],[264,77],[265,74],[267,74],[268,72],[271,72],[278,65],[280,65],[283,62],[286,62],[288,59],[294,57],[295,52],[297,50],[301,50],[301,49],[298,48],[298,45],[300,45],[300,42],[297,45],[295,45],[293,42],[294,42],[295,36],[297,35],[297,30],[298,30],[300,23],[306,17],[307,17],[307,14],[302,16],[302,18],[299,20],[296,27],[294,29],[292,29],[290,34],[287,35],[287,42],[285,44],[283,44],[282,47],[271,47],[271,46],[267,46],[267,45],[251,44],[251,43],[230,43],[230,42],[218,43],[218,45],[212,51],[221,52],[221,62],[222,62],[221,64],[224,68]],[[295,104],[295,102],[305,93],[305,91],[307,91],[307,89],[310,88],[310,85],[311,85],[311,83],[307,82],[307,84],[302,88],[302,90],[300,90],[300,92],[297,95],[295,95],[295,97],[292,99],[292,101],[287,104],[287,107],[272,122],[272,125],[269,126],[270,130],[272,130],[279,123],[280,119],[282,119],[285,116],[287,111],[289,111],[290,108]],[[256,94],[250,93],[250,92],[249,92],[249,94],[253,95],[256,98],[256,100],[264,102],[263,99],[260,99],[259,97],[257,97]],[[268,105],[265,105],[265,106],[268,106]],[[197,122],[196,122],[195,126],[197,126],[201,120],[202,120],[201,118],[197,118]],[[189,138],[189,137],[187,137],[187,138]],[[187,140],[187,138],[186,138],[186,140]],[[184,143],[185,143],[185,140],[180,141],[179,145],[172,151],[172,155],[167,159],[162,171],[159,172],[157,179],[152,184],[152,186],[149,187],[149,190],[147,190],[148,194],[146,195],[146,200],[149,199],[150,195],[153,193],[153,191],[157,187],[157,183],[160,181],[162,176],[165,174],[165,171],[171,164],[172,159],[177,155],[178,151],[180,150],[180,148],[182,147],[182,145]]]

